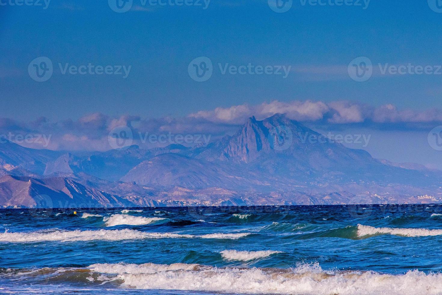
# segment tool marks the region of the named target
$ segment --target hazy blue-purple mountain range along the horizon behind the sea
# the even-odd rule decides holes
[[[69,153],[0,144],[0,206],[437,203],[442,172],[377,160],[284,115],[207,146]]]

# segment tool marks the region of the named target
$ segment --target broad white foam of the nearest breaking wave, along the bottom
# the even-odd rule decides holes
[[[441,294],[442,274],[409,271],[326,272],[319,264],[294,269],[215,268],[198,264],[92,264],[93,272],[114,274],[122,287],[248,294],[415,295]]]

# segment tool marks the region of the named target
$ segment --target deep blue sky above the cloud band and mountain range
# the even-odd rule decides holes
[[[293,0],[289,11],[277,13],[263,0],[211,0],[207,9],[203,1],[202,6],[152,6],[133,0],[130,11],[117,13],[107,1],[52,0],[43,9],[1,0],[6,5],[0,6],[0,117],[23,124],[42,116],[54,124],[76,122],[94,113],[180,118],[274,100],[349,101],[373,108],[392,104],[414,112],[441,109],[442,75],[383,75],[378,63],[442,65],[442,13],[427,1],[371,0],[366,9],[363,1],[362,6],[332,6],[339,0],[330,1],[320,6]],[[28,66],[42,56],[52,61],[53,75],[37,82]],[[373,75],[365,82],[347,73],[349,63],[361,56],[373,63]],[[213,63],[213,74],[204,82],[188,73],[197,57]],[[63,75],[58,65],[89,63],[130,66],[130,72],[126,78]],[[290,66],[290,73],[286,78],[223,75],[218,65],[249,63]],[[402,121],[416,121],[407,118],[396,119],[394,128],[381,122],[369,130],[379,134],[377,142],[388,142],[392,135],[379,130],[394,129],[399,138],[416,132],[417,138],[426,138],[431,124],[438,125],[400,127]],[[366,128],[371,119],[367,115],[357,123]],[[395,155],[381,143],[368,149],[394,161],[441,162],[442,152],[422,150],[425,144],[428,148],[425,142],[410,142],[406,148],[397,144],[401,152]]]

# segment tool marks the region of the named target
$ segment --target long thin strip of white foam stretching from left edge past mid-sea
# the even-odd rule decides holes
[[[247,236],[248,233],[240,234],[175,234],[175,233],[147,233],[138,230],[54,230],[39,232],[11,233],[5,230],[0,233],[0,242],[39,242],[39,241],[119,241],[148,238],[205,238],[205,239],[238,239]]]

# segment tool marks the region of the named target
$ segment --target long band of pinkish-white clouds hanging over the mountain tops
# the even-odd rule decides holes
[[[262,120],[277,113],[285,114],[293,120],[321,126],[351,123],[371,128],[393,126],[394,128],[404,128],[404,130],[406,128],[426,130],[436,123],[442,125],[442,111],[437,109],[416,111],[399,110],[392,104],[371,107],[349,101],[293,100],[282,102],[274,100],[257,105],[241,104],[232,107],[217,107],[213,110],[198,111],[181,118],[141,119],[139,116],[110,117],[100,113],[88,114],[76,121],[66,119],[60,122],[50,122],[44,117],[27,123],[0,118],[0,135],[12,133],[38,136],[38,134],[44,134],[46,138],[50,138],[48,146],[39,146],[36,142],[22,144],[32,148],[104,151],[110,149],[109,131],[116,126],[129,126],[133,130],[133,144],[143,148],[152,148],[155,146],[141,141],[140,134],[141,136],[169,132],[173,134],[210,134],[213,140],[225,134],[232,134],[240,124],[243,124],[252,115]]]

